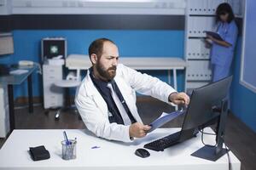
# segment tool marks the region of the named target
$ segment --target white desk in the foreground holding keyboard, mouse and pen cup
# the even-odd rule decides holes
[[[131,144],[96,138],[85,130],[66,130],[70,139],[78,138],[77,159],[61,159],[61,140],[63,130],[14,130],[0,150],[0,169],[90,169],[90,170],[131,170],[131,169],[172,169],[172,170],[224,170],[228,169],[228,158],[222,156],[218,161],[206,161],[193,156],[192,152],[202,147],[201,135],[182,144],[177,144],[163,152],[149,150],[151,156],[141,158],[134,155],[137,148],[145,143],[174,133],[179,128],[160,128],[149,133],[144,139],[137,139]],[[207,140],[214,140],[205,135]],[[50,159],[32,161],[27,150],[29,146],[44,144],[49,150]],[[92,146],[99,149],[91,149]],[[233,170],[239,170],[240,161],[230,152]]]

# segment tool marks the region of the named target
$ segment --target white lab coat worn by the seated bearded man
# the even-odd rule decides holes
[[[169,95],[176,92],[166,82],[161,82],[156,77],[142,74],[122,64],[117,66],[114,81],[117,83],[132,116],[137,122],[142,122],[142,119],[137,112],[136,91],[167,103],[169,103]],[[75,104],[85,126],[96,136],[131,142],[130,126],[108,121],[108,106],[91,81],[89,71],[77,89]]]

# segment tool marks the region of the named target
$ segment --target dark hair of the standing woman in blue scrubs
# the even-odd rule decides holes
[[[220,3],[216,9],[216,21],[220,21],[221,14],[229,14],[228,23],[235,19],[235,14],[229,3]]]

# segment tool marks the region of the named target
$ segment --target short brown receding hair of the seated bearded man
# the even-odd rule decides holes
[[[101,57],[103,52],[104,42],[112,42],[113,44],[115,44],[112,40],[105,37],[96,39],[95,41],[90,43],[90,46],[88,48],[89,57],[91,54],[96,54],[98,57]]]

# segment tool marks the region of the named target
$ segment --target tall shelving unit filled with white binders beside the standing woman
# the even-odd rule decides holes
[[[185,59],[188,63],[185,88],[191,93],[211,82],[210,49],[206,48],[204,31],[216,31],[215,10],[224,0],[188,0],[185,21]]]

